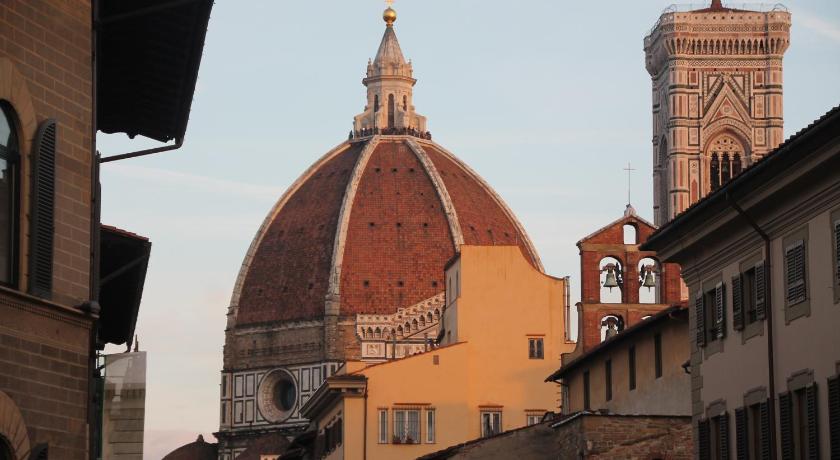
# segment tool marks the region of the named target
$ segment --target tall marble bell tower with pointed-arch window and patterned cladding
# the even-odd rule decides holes
[[[790,13],[672,6],[645,37],[653,83],[654,223],[663,225],[783,141]]]

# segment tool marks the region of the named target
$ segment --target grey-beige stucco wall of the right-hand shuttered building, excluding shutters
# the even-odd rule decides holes
[[[836,152],[840,146],[834,145],[830,149]],[[795,172],[791,171],[791,174]],[[776,182],[768,183],[768,187],[783,185]],[[837,334],[840,304],[835,303],[832,261],[836,249],[831,234],[832,222],[840,216],[840,191],[836,189],[836,177],[811,179],[808,187],[796,194],[787,193],[782,199],[773,198],[773,214],[759,216],[757,220],[771,238],[774,396],[777,398],[779,393],[788,391],[788,379],[793,374],[811,370],[817,384],[817,403],[825,407],[828,402],[826,379],[837,374],[840,366],[840,335]],[[765,199],[764,193],[764,190],[756,191],[752,201]],[[747,208],[746,203],[743,206]],[[720,221],[725,220],[721,218]],[[726,337],[721,343],[698,349],[691,335],[695,421],[705,417],[706,410],[714,402],[724,402],[731,416],[736,408],[744,405],[747,392],[758,388],[769,390],[767,322],[761,321],[759,335],[752,337],[735,331],[732,325],[732,277],[745,261],[764,258],[763,242],[746,225],[742,223],[740,228],[730,228],[726,237],[693,254],[692,260],[697,265],[683,264],[683,273],[690,277],[687,281],[692,298],[701,285],[708,288],[713,279],[720,278],[727,286]],[[806,284],[810,313],[786,321],[784,243],[792,232],[804,228],[807,228]],[[725,249],[722,251],[722,248]],[[691,334],[694,334],[695,325],[692,311]],[[817,417],[820,451],[825,455],[829,452],[828,411],[818,410]],[[779,436],[777,448],[778,442]],[[735,443],[731,449],[734,458]]]

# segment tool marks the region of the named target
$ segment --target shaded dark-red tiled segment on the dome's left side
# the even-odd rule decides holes
[[[279,203],[247,266],[237,326],[323,316],[341,198],[363,146],[322,159]]]

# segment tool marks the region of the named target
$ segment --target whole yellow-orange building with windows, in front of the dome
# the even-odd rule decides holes
[[[574,344],[568,284],[516,246],[462,246],[446,267],[439,346],[384,363],[348,361],[303,406],[316,458],[416,458],[535,423],[559,405],[543,383]]]

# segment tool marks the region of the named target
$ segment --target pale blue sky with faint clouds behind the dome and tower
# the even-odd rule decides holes
[[[642,40],[668,1],[397,0],[414,102],[435,141],[507,201],[547,273],[632,204],[652,219]],[[702,5],[698,5],[702,6]],[[794,0],[785,136],[840,104],[840,2]],[[146,458],[218,429],[225,313],[245,251],[283,191],[341,143],[384,31],[378,0],[217,0],[186,143],[102,166],[102,221],[148,236],[137,323],[148,352]],[[98,137],[103,155],[155,146]],[[121,351],[112,347],[110,351]]]

